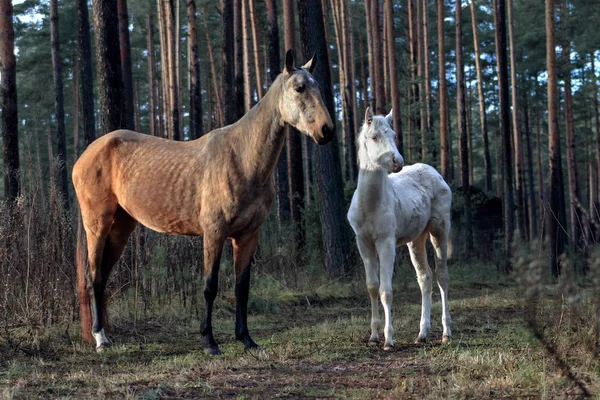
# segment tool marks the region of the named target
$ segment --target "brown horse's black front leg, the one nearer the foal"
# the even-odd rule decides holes
[[[235,267],[235,338],[244,343],[245,349],[258,347],[248,333],[248,294],[250,292],[250,268],[254,264],[254,252],[259,233],[233,239],[233,264]]]

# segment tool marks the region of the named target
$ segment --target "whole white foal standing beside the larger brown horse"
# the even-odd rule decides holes
[[[447,258],[452,192],[429,165],[402,168],[404,160],[394,143],[391,122],[392,112],[387,117],[373,116],[367,109],[357,141],[358,186],[348,211],[348,221],[365,264],[371,298],[369,342],[379,341],[379,296],[385,314],[385,350],[394,347],[392,275],[396,247],[403,244],[410,250],[422,295],[421,325],[416,342],[426,340],[432,292],[432,274],[425,249],[428,235],[435,248],[435,275],[442,298],[442,342],[451,336]]]

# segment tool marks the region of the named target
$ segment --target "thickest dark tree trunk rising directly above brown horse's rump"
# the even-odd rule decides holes
[[[94,0],[94,39],[102,133],[123,128],[123,75],[116,0]]]

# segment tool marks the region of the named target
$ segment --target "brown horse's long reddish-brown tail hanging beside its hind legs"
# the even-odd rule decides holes
[[[92,311],[90,296],[87,289],[86,279],[87,246],[83,220],[81,213],[77,218],[77,251],[75,253],[75,264],[77,265],[77,295],[79,296],[79,317],[81,318],[81,339],[87,343],[93,343],[92,337]]]

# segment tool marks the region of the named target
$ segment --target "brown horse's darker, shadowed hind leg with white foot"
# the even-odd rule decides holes
[[[110,226],[110,231],[104,244],[100,273],[96,270],[96,273],[92,276],[92,285],[94,288],[94,302],[92,304],[94,304],[95,309],[92,334],[96,339],[96,351],[102,351],[105,347],[110,346],[110,341],[104,334],[104,324],[108,322],[104,296],[106,284],[112,268],[121,257],[121,254],[123,254],[123,250],[125,250],[125,246],[127,245],[127,239],[135,229],[136,224],[137,221],[125,210],[120,206],[117,207],[114,221]]]

